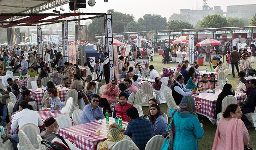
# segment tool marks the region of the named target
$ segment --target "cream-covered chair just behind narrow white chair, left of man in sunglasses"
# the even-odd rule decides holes
[[[70,117],[72,117],[73,111],[79,109],[77,90],[75,90],[75,89],[68,90],[67,93],[66,93],[65,101],[67,101],[70,97],[73,98],[73,107],[72,107],[72,109],[71,109],[71,111],[70,111],[70,113],[68,115]]]

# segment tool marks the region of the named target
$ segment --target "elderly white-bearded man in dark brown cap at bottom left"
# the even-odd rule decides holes
[[[68,139],[64,139],[62,136],[57,134],[59,132],[58,122],[53,118],[49,117],[44,121],[46,131],[40,133],[42,139],[51,141],[51,143],[58,142],[60,144],[64,144],[71,150],[79,150],[79,148],[75,147]]]

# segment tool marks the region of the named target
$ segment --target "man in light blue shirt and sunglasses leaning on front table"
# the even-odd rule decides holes
[[[83,113],[81,115],[81,123],[105,118],[100,106],[98,106],[99,101],[100,96],[94,94],[91,98],[91,103],[84,107]]]

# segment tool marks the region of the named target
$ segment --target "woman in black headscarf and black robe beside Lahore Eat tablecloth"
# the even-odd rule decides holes
[[[217,98],[217,105],[216,105],[217,114],[221,113],[222,100],[228,95],[233,95],[234,96],[234,93],[232,93],[231,91],[232,91],[232,85],[231,84],[227,83],[223,86],[223,90]]]

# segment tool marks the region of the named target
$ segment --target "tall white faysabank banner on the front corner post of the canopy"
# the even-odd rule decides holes
[[[105,44],[106,44],[106,52],[108,52],[110,64],[110,80],[115,78],[115,69],[114,69],[114,48],[113,48],[113,35],[112,35],[112,16],[105,15],[104,16],[104,24],[105,24]]]

